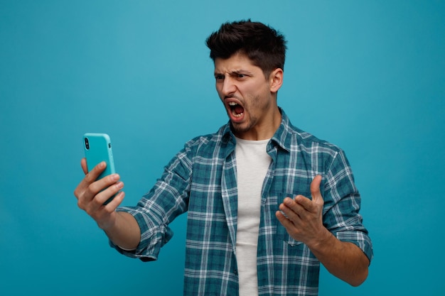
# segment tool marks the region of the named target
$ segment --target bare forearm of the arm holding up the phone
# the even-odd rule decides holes
[[[141,229],[132,214],[116,212],[114,223],[102,228],[108,238],[125,250],[134,250],[141,241]]]

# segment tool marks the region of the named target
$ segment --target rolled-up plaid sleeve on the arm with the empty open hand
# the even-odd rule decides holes
[[[338,150],[325,177],[323,224],[337,239],[358,246],[371,261],[372,242],[359,213],[360,193],[343,150]]]

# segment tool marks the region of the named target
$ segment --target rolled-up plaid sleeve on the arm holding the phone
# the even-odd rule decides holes
[[[109,241],[119,253],[141,261],[157,260],[159,251],[173,236],[168,224],[186,212],[190,192],[191,162],[188,149],[182,150],[166,165],[162,177],[141,198],[136,207],[119,207],[117,212],[132,214],[141,229],[141,241],[133,251],[127,251]]]

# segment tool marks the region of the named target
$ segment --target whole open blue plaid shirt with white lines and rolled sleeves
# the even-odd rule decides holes
[[[118,209],[138,221],[138,248],[114,248],[143,261],[156,260],[173,235],[168,224],[188,211],[184,295],[238,295],[235,145],[230,124],[186,143],[136,207]],[[372,244],[359,214],[353,172],[343,150],[295,128],[284,111],[267,153],[272,163],[262,187],[259,295],[318,295],[319,261],[287,234],[275,212],[284,197],[310,197],[313,177],[322,175],[324,226],[341,241],[355,243],[371,260]]]

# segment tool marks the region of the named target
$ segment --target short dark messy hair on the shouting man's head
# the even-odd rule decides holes
[[[264,23],[235,21],[223,23],[220,29],[205,40],[210,48],[210,58],[227,59],[235,53],[242,53],[260,67],[267,77],[277,69],[284,70],[286,40],[284,35]]]

